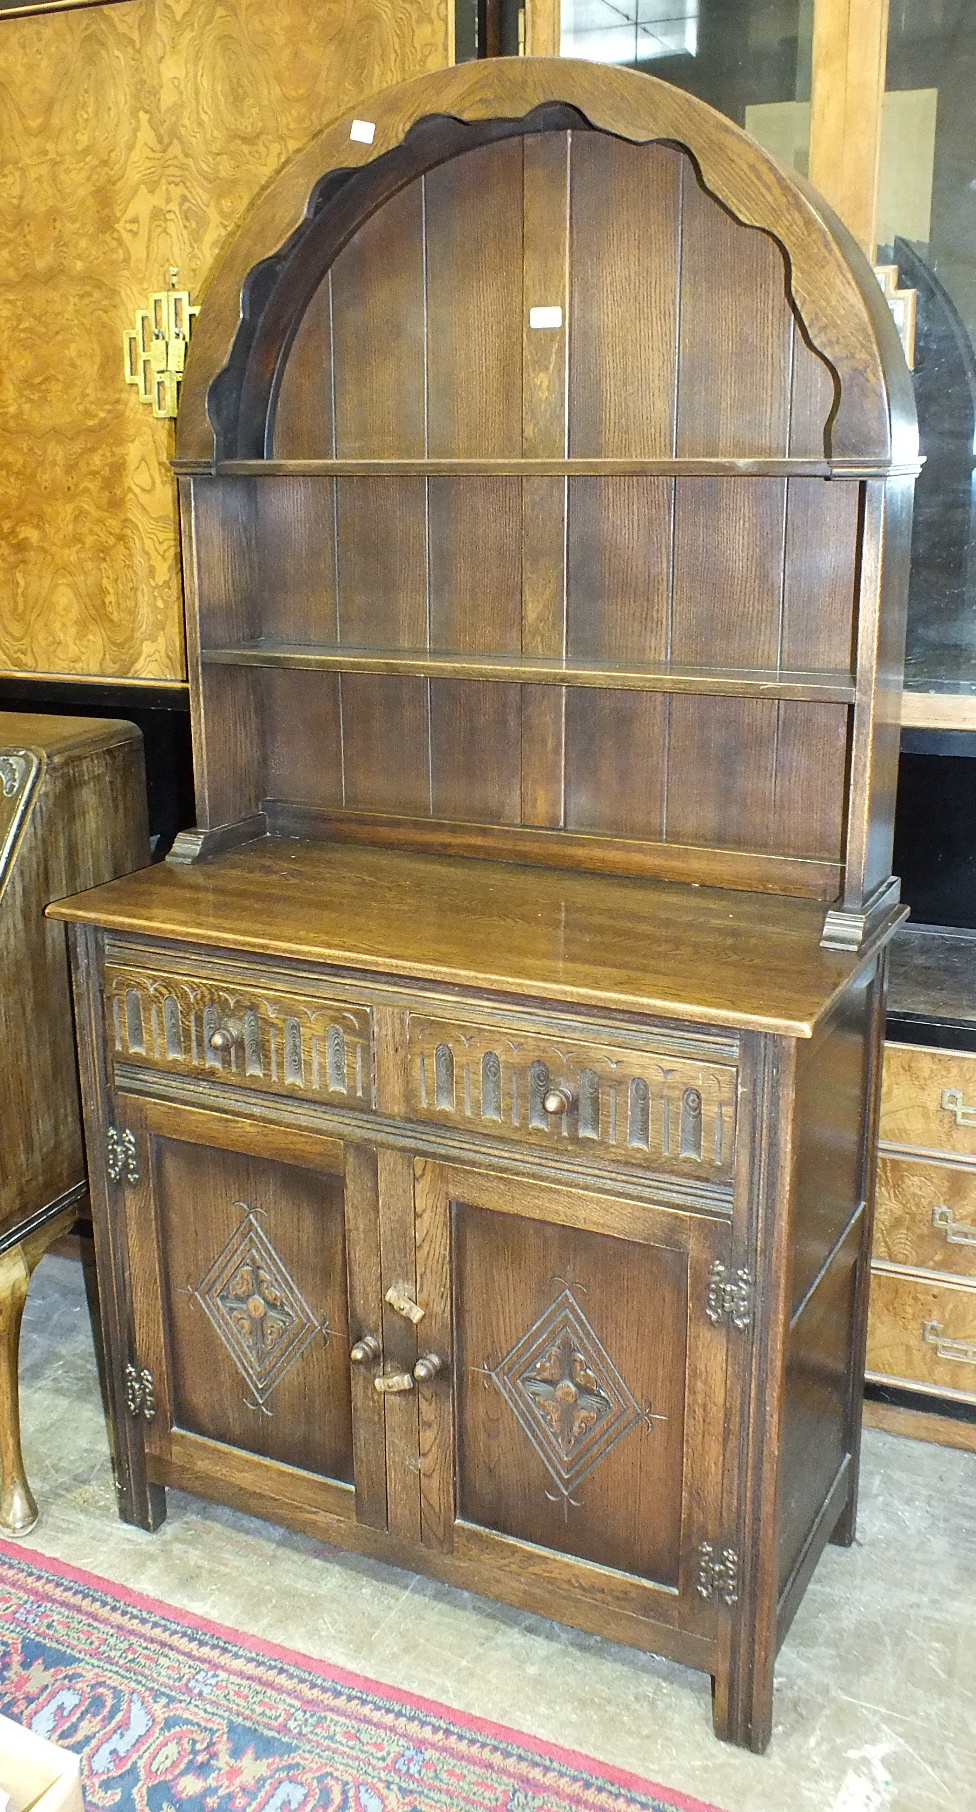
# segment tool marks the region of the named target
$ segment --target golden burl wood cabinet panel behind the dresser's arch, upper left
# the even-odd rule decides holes
[[[445,0],[139,0],[0,16],[0,667],[183,676],[170,422],[121,333],[194,299],[272,170],[451,60]]]

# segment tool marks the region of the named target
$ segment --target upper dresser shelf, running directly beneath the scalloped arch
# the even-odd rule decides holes
[[[181,477],[219,478],[891,478],[911,466],[828,458],[176,458]]]

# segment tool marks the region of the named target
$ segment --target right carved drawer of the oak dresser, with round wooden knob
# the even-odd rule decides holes
[[[733,1065],[409,1017],[407,1104],[431,1120],[728,1181]],[[565,1109],[547,1111],[561,1094]]]

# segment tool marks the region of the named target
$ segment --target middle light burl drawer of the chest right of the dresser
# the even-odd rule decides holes
[[[976,1281],[976,1171],[882,1154],[875,1258]]]

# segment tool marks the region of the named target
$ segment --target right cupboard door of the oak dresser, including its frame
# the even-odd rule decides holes
[[[728,1225],[424,1161],[415,1205],[418,1337],[444,1359],[418,1401],[424,1542],[569,1622],[588,1596],[710,1636]]]

